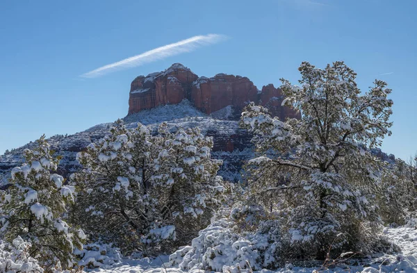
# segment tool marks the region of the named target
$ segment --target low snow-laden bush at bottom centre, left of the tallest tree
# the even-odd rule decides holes
[[[273,268],[279,262],[281,248],[275,224],[265,222],[256,233],[234,231],[234,222],[223,218],[199,232],[188,247],[181,247],[170,256],[170,265],[182,270],[222,272],[224,267]],[[271,225],[272,224],[272,225]]]

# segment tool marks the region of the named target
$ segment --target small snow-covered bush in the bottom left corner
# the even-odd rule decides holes
[[[13,242],[0,241],[0,272],[44,272],[38,260],[29,255],[31,243],[17,236]]]

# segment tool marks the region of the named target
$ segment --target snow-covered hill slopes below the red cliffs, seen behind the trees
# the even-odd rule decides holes
[[[227,114],[227,111],[224,113]],[[243,163],[253,156],[250,135],[239,128],[238,122],[222,119],[220,114],[215,117],[205,115],[184,100],[180,104],[161,106],[128,115],[124,117],[124,122],[130,129],[136,128],[137,123],[140,122],[154,131],[161,122],[167,122],[172,130],[178,127],[199,127],[204,135],[214,138],[213,157],[224,161],[220,175],[229,181],[238,181]],[[51,149],[56,151],[56,155],[63,156],[58,172],[67,176],[79,169],[76,153],[85,149],[88,144],[103,138],[112,124],[112,122],[97,124],[74,135],[54,135],[49,138]],[[31,149],[34,145],[35,143],[31,142],[0,156],[0,181],[3,185],[7,183],[10,170],[23,163],[24,149]]]

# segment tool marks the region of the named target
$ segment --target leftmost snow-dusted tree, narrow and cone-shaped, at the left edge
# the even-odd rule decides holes
[[[64,185],[56,171],[58,159],[42,136],[38,146],[25,149],[26,163],[12,170],[10,188],[2,192],[0,235],[13,242],[18,236],[30,245],[28,253],[45,268],[70,268],[74,247],[82,249],[84,233],[64,220],[74,188]]]

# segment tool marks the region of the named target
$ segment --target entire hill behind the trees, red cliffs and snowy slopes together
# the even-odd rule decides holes
[[[196,97],[197,91],[205,99]],[[172,130],[199,127],[204,135],[213,137],[213,158],[223,160],[219,175],[228,181],[240,181],[243,164],[254,154],[249,133],[238,126],[240,111],[248,101],[270,107],[280,119],[300,116],[281,106],[284,100],[281,90],[271,84],[258,90],[246,77],[226,74],[198,77],[181,64],[174,64],[164,72],[138,76],[131,83],[129,95],[129,115],[124,117],[128,128],[135,128],[138,122],[152,129],[161,122],[168,122]],[[103,138],[111,126],[112,122],[97,124],[73,135],[49,138],[56,155],[63,156],[58,172],[66,177],[79,169],[76,153]],[[0,156],[2,184],[7,183],[10,170],[22,164],[23,150],[32,147],[33,142]],[[389,162],[395,160],[395,156],[387,156],[379,149],[373,153]]]

